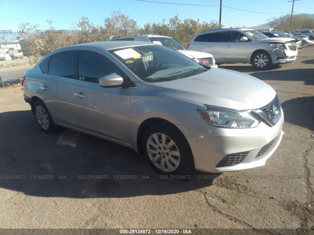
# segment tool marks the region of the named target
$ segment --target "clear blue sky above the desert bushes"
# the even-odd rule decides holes
[[[291,13],[289,1],[222,0],[222,24],[225,27],[264,24],[273,17]],[[48,29],[46,20],[52,20],[55,29],[72,29],[83,16],[95,25],[104,25],[104,19],[118,10],[139,26],[161,23],[163,19],[168,23],[176,15],[181,20],[218,22],[219,4],[220,0],[0,0],[0,30],[17,32],[22,23],[39,24],[39,29],[45,30]],[[314,0],[295,1],[293,12],[314,14]]]

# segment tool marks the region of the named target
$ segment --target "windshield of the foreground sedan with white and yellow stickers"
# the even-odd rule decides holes
[[[159,45],[109,50],[146,82],[164,82],[208,71],[181,53]]]

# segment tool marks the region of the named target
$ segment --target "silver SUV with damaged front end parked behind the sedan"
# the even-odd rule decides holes
[[[194,36],[188,50],[211,53],[219,64],[248,63],[258,70],[296,60],[294,39],[269,38],[249,28],[223,28]]]

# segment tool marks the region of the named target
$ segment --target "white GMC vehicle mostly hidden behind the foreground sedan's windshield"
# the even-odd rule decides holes
[[[186,50],[179,42],[177,42],[171,37],[147,34],[147,35],[137,35],[137,36],[123,36],[123,37],[116,37],[116,38],[112,37],[109,39],[109,41],[141,41],[141,42],[155,43],[155,44],[159,44],[159,45],[177,50],[181,54],[196,61],[200,65],[203,65],[205,67],[217,68],[217,65],[215,64],[215,59],[211,54],[200,52],[200,51]]]

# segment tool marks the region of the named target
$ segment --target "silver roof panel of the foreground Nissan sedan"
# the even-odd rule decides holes
[[[84,43],[84,44],[77,44],[69,47],[64,47],[64,48],[73,48],[77,47],[98,47],[98,48],[103,48],[105,50],[110,50],[110,49],[116,49],[120,47],[131,47],[131,46],[141,46],[141,45],[156,45],[154,43],[150,42],[140,42],[140,41],[106,41],[106,42],[96,42],[96,43]]]

